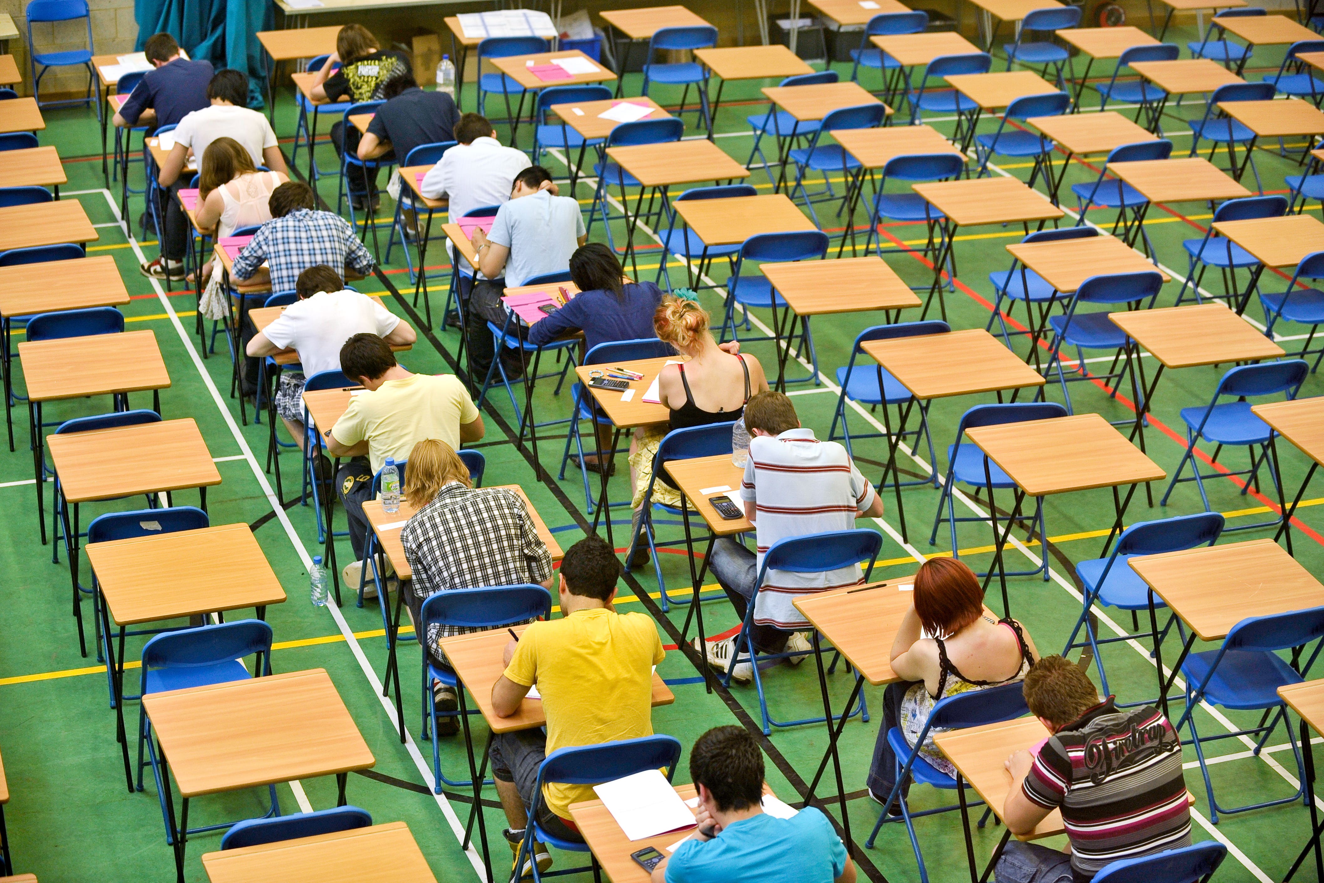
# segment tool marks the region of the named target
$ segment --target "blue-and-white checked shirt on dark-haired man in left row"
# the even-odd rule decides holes
[[[336,273],[346,266],[363,275],[372,271],[372,254],[343,217],[302,208],[263,224],[234,258],[230,275],[248,279],[263,261],[271,271],[274,293],[294,291],[299,274],[319,263]]]

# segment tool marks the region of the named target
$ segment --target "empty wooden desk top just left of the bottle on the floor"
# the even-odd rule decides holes
[[[89,543],[85,551],[115,625],[285,601],[248,524]]]

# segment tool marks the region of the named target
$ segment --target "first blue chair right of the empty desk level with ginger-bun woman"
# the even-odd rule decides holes
[[[1115,307],[1117,304],[1140,303],[1145,299],[1149,301],[1148,306],[1152,307],[1155,301],[1158,299],[1161,289],[1162,274],[1157,270],[1152,273],[1108,273],[1092,275],[1076,289],[1076,293],[1071,297],[1070,306],[1067,306],[1066,315],[1049,316],[1049,327],[1053,328],[1053,355],[1049,356],[1049,364],[1045,365],[1043,376],[1051,377],[1053,369],[1057,368],[1058,384],[1062,387],[1062,396],[1067,402],[1067,413],[1075,413],[1071,409],[1071,393],[1067,392],[1068,383],[1102,380],[1112,387],[1108,398],[1116,398],[1117,391],[1121,389],[1121,380],[1128,372],[1136,387],[1136,408],[1143,406],[1144,391],[1140,389],[1140,377],[1133,373],[1136,365],[1132,364],[1129,353],[1123,367],[1116,369],[1117,360],[1127,352],[1131,338],[1108,318],[1108,310],[1100,312],[1079,312],[1078,310],[1082,303],[1100,303]],[[1070,379],[1067,379],[1063,371],[1063,347],[1075,347],[1076,351],[1076,376]],[[1112,349],[1116,353],[1112,359],[1112,367],[1107,373],[1096,375],[1086,369],[1086,349]],[[1039,389],[1039,396],[1043,396],[1043,388]],[[1113,425],[1129,426],[1133,422],[1133,417],[1127,417],[1121,421],[1113,421]]]

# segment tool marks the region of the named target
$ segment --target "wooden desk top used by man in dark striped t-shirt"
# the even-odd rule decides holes
[[[1002,765],[1014,752],[1029,749],[1049,737],[1038,718],[1018,718],[1001,724],[984,724],[969,729],[952,729],[933,736],[939,751],[960,770],[965,781],[980,793],[993,814],[1002,818],[1002,806],[1012,790],[1012,773]],[[1018,841],[1037,841],[1066,830],[1062,812],[1053,810],[1031,834]]]

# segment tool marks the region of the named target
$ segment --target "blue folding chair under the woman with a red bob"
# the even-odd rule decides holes
[[[963,793],[960,804],[925,809],[919,813],[912,813],[910,810],[908,796],[906,793],[906,786],[903,785],[907,778],[919,785],[932,785],[933,788],[941,788],[945,790],[964,790],[965,786],[961,781],[960,773],[955,777],[948,776],[928,763],[920,753],[920,748],[923,748],[929,732],[967,729],[969,727],[980,727],[982,724],[997,724],[1005,720],[1023,718],[1029,711],[1030,708],[1025,704],[1025,694],[1021,690],[1021,683],[1004,683],[997,687],[988,687],[986,690],[959,692],[955,696],[948,696],[947,699],[941,699],[935,703],[933,711],[929,712],[928,720],[924,721],[924,728],[915,740],[914,748],[911,748],[910,743],[906,741],[906,733],[902,732],[900,727],[892,727],[888,729],[887,741],[892,748],[892,753],[896,756],[896,780],[892,785],[891,793],[887,796],[887,800],[883,801],[883,810],[879,813],[878,821],[874,823],[874,830],[870,831],[869,839],[865,841],[865,849],[874,847],[874,841],[878,838],[878,831],[883,827],[883,825],[887,822],[904,822],[906,833],[910,835],[911,849],[915,851],[915,863],[919,866],[920,883],[928,883],[928,868],[924,867],[924,855],[919,849],[919,837],[915,834],[914,819],[923,815],[949,813],[953,809],[959,809],[961,810],[961,821],[965,822],[965,827],[969,830],[967,809],[969,806],[980,806],[984,804],[984,801],[967,802]],[[906,759],[904,761],[902,760],[903,757]],[[887,809],[894,801],[902,810],[900,815],[888,815],[887,813]]]

